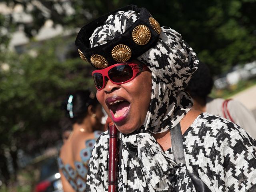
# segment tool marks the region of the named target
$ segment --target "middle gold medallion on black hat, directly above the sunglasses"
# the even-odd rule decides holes
[[[132,51],[127,45],[117,45],[112,49],[112,57],[117,62],[126,62],[132,56]]]

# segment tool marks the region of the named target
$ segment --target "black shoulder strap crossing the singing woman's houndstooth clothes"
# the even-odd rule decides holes
[[[172,151],[176,163],[186,164],[180,123],[178,123],[174,128],[170,129],[170,133],[172,141]],[[206,184],[198,176],[190,172],[188,172],[188,174],[194,184],[194,187],[196,188],[196,191],[211,192],[208,186],[206,186]]]

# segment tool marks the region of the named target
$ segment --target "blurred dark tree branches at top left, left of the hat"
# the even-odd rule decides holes
[[[32,16],[32,21],[26,21],[24,25],[28,37],[34,36],[48,19],[66,28],[77,28],[84,26],[98,15],[126,4],[125,0],[3,0],[2,2],[11,8],[20,5],[24,13]],[[10,14],[10,18],[12,17],[14,15]],[[16,23],[22,24],[22,20]]]

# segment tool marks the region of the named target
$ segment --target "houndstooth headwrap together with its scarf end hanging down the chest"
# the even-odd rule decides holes
[[[140,14],[134,10],[119,11],[108,16],[105,24],[94,30],[90,37],[90,47],[106,44],[120,36],[139,17]],[[147,188],[146,191],[168,191],[174,189],[170,175],[180,174],[178,177],[180,181],[176,182],[189,180],[190,182],[183,185],[183,190],[194,191],[193,185],[190,185],[191,180],[187,177],[186,166],[178,166],[176,171],[172,169],[170,160],[166,159],[152,133],[165,132],[173,128],[190,110],[191,98],[183,90],[197,68],[196,54],[182,40],[178,32],[162,27],[155,46],[139,56],[137,60],[146,64],[152,72],[151,102],[143,126],[136,133],[129,135],[120,133],[119,137],[124,146],[120,152],[123,163],[119,167],[121,169],[119,172],[122,173],[118,178],[119,190],[125,191],[125,186],[130,186],[132,182],[131,185],[138,191],[143,191],[140,188]],[[146,152],[145,147],[149,147],[150,152]],[[102,146],[102,148],[106,149],[108,146]],[[132,155],[136,153],[130,151],[134,148],[138,154],[136,157]],[[95,155],[92,153],[92,157]],[[107,161],[102,162],[100,166],[107,167]],[[130,173],[127,172],[128,167],[138,172],[142,168],[144,172],[138,174],[136,171],[136,176],[131,178]],[[108,176],[104,175],[104,178],[107,180]]]

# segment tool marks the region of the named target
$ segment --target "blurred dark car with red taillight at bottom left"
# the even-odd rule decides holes
[[[63,192],[56,158],[50,158],[42,164],[34,192]]]

